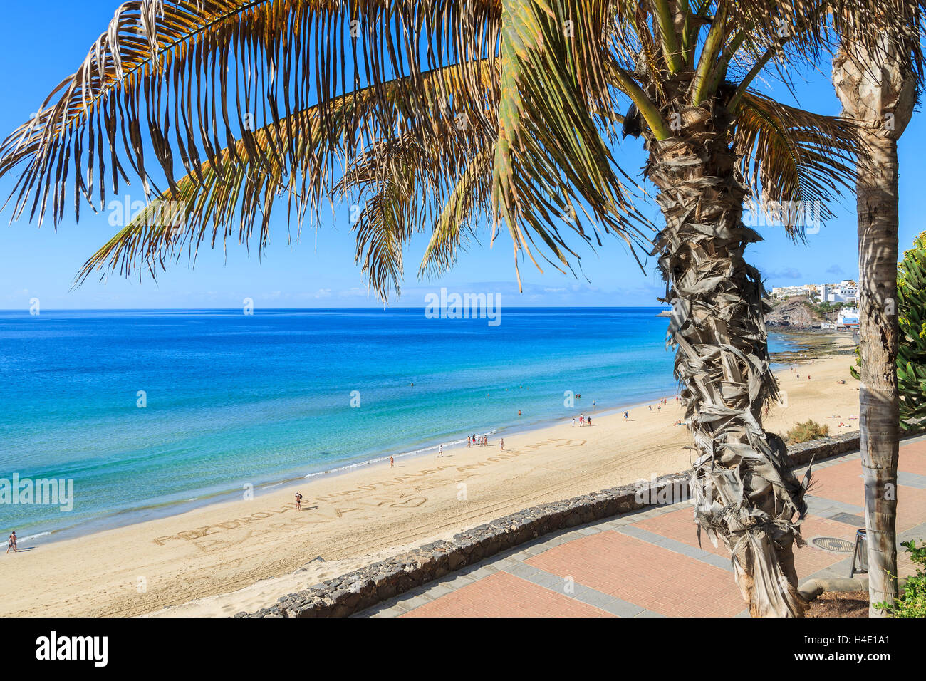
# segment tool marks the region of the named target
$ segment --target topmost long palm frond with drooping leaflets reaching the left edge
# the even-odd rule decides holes
[[[481,61],[494,62],[498,22],[493,0],[132,0],[81,68],[0,145],[0,176],[21,170],[13,218],[28,207],[41,223],[50,204],[57,223],[69,190],[78,217],[81,196],[102,209],[106,170],[113,193],[132,176],[146,197],[161,194],[162,182],[176,192],[174,178],[198,181],[206,162],[221,175],[220,150],[237,154],[235,140],[241,153],[292,166],[292,131],[281,133],[290,144],[265,149],[253,132],[311,106],[327,123],[330,103],[367,87],[381,106],[320,126],[309,149],[319,169],[332,170],[339,149],[395,134],[401,120],[414,121],[422,144],[439,144],[435,127],[414,115],[426,97],[422,74],[457,65],[466,98],[485,95]],[[396,81],[403,92],[390,98],[386,83]]]

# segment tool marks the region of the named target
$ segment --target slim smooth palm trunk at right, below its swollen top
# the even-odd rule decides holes
[[[869,598],[897,596],[897,143],[863,132],[870,164],[857,180],[859,329],[861,369],[859,429],[865,476]],[[872,617],[884,613],[870,606]]]

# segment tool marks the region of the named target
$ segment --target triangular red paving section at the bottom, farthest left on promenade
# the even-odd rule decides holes
[[[508,573],[494,573],[402,617],[613,617]]]

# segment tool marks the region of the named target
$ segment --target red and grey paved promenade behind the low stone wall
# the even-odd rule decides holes
[[[858,453],[814,464],[797,549],[800,581],[849,576],[851,549],[820,549],[814,537],[854,542],[864,527]],[[803,474],[806,469],[800,469]],[[900,448],[898,541],[926,539],[926,437]],[[904,549],[901,575],[913,572]],[[412,589],[357,616],[686,617],[747,616],[725,549],[698,547],[691,506],[651,507],[542,536]]]

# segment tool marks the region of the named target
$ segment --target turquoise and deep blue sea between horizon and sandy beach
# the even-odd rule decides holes
[[[74,486],[71,511],[0,504],[0,530],[80,534],[671,395],[658,311],[0,312],[0,479]]]

